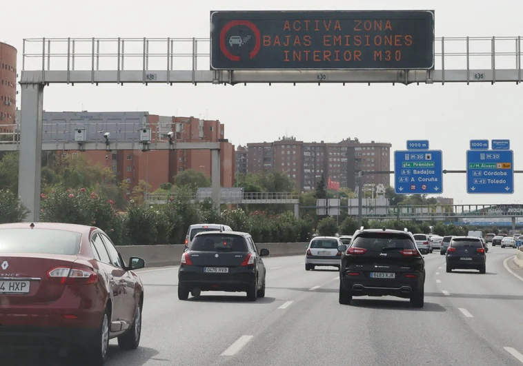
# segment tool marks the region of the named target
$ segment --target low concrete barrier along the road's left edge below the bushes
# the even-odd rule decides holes
[[[269,256],[305,255],[308,243],[256,243],[258,250],[268,249]],[[139,256],[146,261],[146,267],[179,265],[184,245],[119,245],[118,251],[128,261],[131,256]]]

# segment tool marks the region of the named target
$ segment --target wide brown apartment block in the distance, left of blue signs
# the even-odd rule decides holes
[[[247,144],[247,171],[249,173],[284,172],[295,181],[297,189],[313,190],[324,175],[339,182],[340,187],[355,189],[356,174],[390,170],[390,143],[361,143],[358,139],[344,139],[339,143],[324,141],[306,143],[295,137],[274,142]],[[243,153],[243,152],[242,152]],[[241,154],[237,152],[238,159]],[[364,175],[364,184],[390,185],[389,174]]]

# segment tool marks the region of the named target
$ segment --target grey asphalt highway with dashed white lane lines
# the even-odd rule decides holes
[[[514,254],[491,247],[486,274],[448,274],[444,256],[426,255],[423,309],[392,297],[339,305],[337,270],[306,272],[302,256],[266,258],[266,297],[255,303],[219,292],[179,301],[176,267],[145,270],[141,347],[122,352],[112,340],[106,365],[521,366],[523,270],[507,261]],[[9,365],[73,364],[18,357]]]

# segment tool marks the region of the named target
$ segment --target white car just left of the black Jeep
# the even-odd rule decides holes
[[[337,267],[342,264],[342,252],[339,245],[344,245],[335,236],[316,236],[308,243],[305,254],[305,270],[314,270],[317,265]]]

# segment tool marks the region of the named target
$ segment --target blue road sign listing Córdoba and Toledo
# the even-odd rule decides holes
[[[466,192],[469,194],[513,194],[512,150],[468,150]]]

